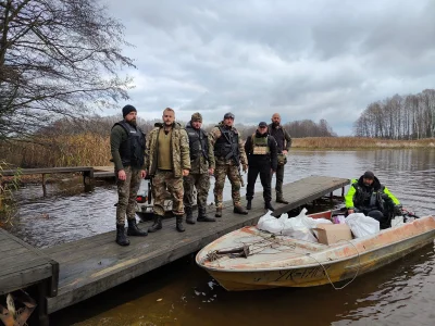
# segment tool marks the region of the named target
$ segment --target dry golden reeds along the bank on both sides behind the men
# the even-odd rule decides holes
[[[435,148],[435,139],[383,140],[357,137],[294,138],[294,149],[406,149]],[[37,138],[35,142],[0,145],[1,160],[11,167],[104,166],[110,165],[109,137],[94,134]]]

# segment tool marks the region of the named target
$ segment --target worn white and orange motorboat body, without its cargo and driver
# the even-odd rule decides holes
[[[331,218],[332,212],[310,216]],[[434,236],[435,216],[330,246],[246,226],[204,247],[196,261],[231,291],[311,287],[374,271],[432,243]]]

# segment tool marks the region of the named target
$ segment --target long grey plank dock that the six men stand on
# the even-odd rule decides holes
[[[283,187],[287,205],[275,204],[278,214],[343,189],[349,179],[311,176]],[[245,201],[244,201],[245,204]],[[214,208],[209,208],[214,215]],[[262,193],[257,193],[248,215],[233,213],[232,202],[225,202],[223,217],[215,223],[186,225],[185,233],[175,230],[175,218],[163,221],[163,229],[148,237],[129,237],[128,247],[115,243],[115,231],[42,249],[59,262],[58,296],[47,298],[47,313],[80,302],[121,285],[149,271],[195,253],[216,238],[246,225],[254,225],[264,214]],[[113,216],[114,222],[114,216]],[[140,223],[148,228],[151,222]]]

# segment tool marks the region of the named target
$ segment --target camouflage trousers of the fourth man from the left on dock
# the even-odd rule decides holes
[[[216,208],[222,208],[222,193],[225,185],[225,177],[228,177],[232,184],[233,204],[240,204],[240,177],[238,166],[235,165],[216,165],[214,168],[214,203]]]

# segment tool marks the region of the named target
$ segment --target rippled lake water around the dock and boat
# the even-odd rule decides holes
[[[422,216],[435,214],[435,149],[293,150],[288,159],[285,183],[310,175],[353,178],[372,170],[405,208]],[[229,196],[226,189],[224,200]],[[114,229],[112,184],[99,183],[84,192],[77,180],[65,180],[49,185],[47,198],[40,185],[32,185],[16,198],[21,204],[11,231],[35,247]],[[343,290],[322,286],[227,292],[192,258],[185,258],[60,311],[51,321],[52,325],[435,325],[434,266],[434,247],[428,246],[357,277]]]

